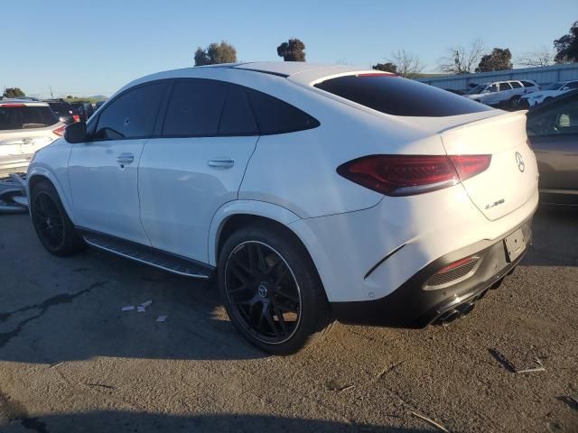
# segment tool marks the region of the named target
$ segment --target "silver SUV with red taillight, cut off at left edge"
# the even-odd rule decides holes
[[[26,171],[34,152],[64,134],[65,126],[45,102],[0,100],[0,178]]]

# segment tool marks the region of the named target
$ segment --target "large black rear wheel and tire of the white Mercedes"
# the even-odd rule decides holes
[[[269,354],[294,354],[331,328],[311,257],[275,226],[245,226],[228,237],[219,253],[218,284],[235,327]]]

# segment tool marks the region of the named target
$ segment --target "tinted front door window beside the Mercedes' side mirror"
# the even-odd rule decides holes
[[[134,88],[115,99],[98,118],[95,138],[118,140],[153,134],[163,88],[163,84]]]

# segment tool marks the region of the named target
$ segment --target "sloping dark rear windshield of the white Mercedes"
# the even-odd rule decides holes
[[[349,75],[327,79],[315,87],[387,115],[443,117],[492,109],[441,88],[388,75]]]

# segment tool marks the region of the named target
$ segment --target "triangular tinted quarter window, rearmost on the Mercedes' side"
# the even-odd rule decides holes
[[[259,134],[281,134],[319,126],[319,122],[299,108],[256,90],[247,90]]]

